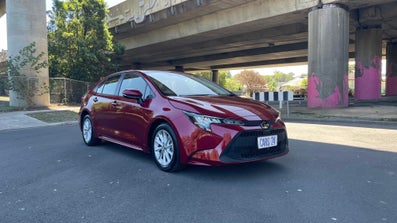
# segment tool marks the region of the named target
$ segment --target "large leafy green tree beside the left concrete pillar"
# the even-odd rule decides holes
[[[113,41],[104,0],[54,0],[49,12],[50,77],[83,81],[118,70],[124,47]]]

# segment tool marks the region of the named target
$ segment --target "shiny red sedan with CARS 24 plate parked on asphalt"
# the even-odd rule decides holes
[[[277,110],[180,72],[128,70],[107,76],[83,96],[80,128],[87,145],[106,140],[152,153],[164,171],[288,153]]]

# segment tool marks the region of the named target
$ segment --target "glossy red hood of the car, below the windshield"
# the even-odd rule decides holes
[[[274,120],[279,115],[265,103],[238,96],[175,96],[170,103],[184,111],[237,120]]]

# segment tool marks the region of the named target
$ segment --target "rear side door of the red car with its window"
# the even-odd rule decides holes
[[[104,80],[96,89],[93,97],[93,121],[98,135],[115,138],[117,132],[114,129],[114,113],[116,112],[116,100],[120,74]]]

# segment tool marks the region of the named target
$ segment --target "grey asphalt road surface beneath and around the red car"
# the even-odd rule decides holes
[[[0,131],[0,222],[397,222],[395,128],[287,127],[287,156],[178,173],[77,125]]]

